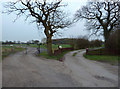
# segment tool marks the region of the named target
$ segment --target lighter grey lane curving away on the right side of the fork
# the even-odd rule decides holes
[[[118,87],[118,66],[85,59],[85,50],[74,57],[75,52],[66,54],[64,63],[81,87]]]

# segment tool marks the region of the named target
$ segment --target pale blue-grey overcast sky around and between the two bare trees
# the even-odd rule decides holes
[[[3,3],[0,0],[0,3]],[[4,0],[5,1],[5,0]],[[71,15],[74,15],[75,12],[81,8],[81,6],[86,4],[86,0],[63,0],[65,3],[68,4],[66,10]],[[0,11],[3,10],[0,4]],[[19,18],[16,22],[13,22],[16,15],[15,14],[0,14],[2,16],[2,40],[12,40],[12,41],[28,41],[28,40],[41,40],[44,38],[44,33],[39,31],[36,27],[36,24],[30,24],[29,21],[24,20],[24,16]],[[0,18],[0,21],[1,21]],[[1,27],[1,26],[0,26]],[[70,28],[66,28],[65,30],[61,30],[62,36],[54,36],[53,38],[68,38],[68,37],[78,37],[88,35],[89,32],[85,30],[84,21],[79,21],[78,23],[74,24]]]

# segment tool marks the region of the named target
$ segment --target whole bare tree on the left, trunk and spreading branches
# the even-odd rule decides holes
[[[38,27],[44,29],[47,38],[47,52],[52,55],[52,37],[57,30],[71,25],[67,14],[61,9],[65,5],[62,0],[17,0],[5,5],[7,13],[15,12],[17,18],[26,15],[26,19],[34,17]]]

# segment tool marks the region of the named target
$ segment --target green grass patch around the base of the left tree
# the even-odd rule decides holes
[[[61,53],[59,55],[53,55],[53,56],[49,56],[47,54],[47,52],[43,52],[43,53],[40,53],[40,55],[38,55],[38,56],[42,56],[42,57],[47,58],[47,59],[59,60],[59,59],[61,59],[68,52],[70,52],[70,51],[66,51],[66,52],[63,52],[63,53]]]

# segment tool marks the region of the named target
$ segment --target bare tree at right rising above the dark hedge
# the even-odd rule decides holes
[[[75,14],[75,20],[86,19],[87,28],[104,36],[105,43],[119,22],[119,2],[89,2]]]

